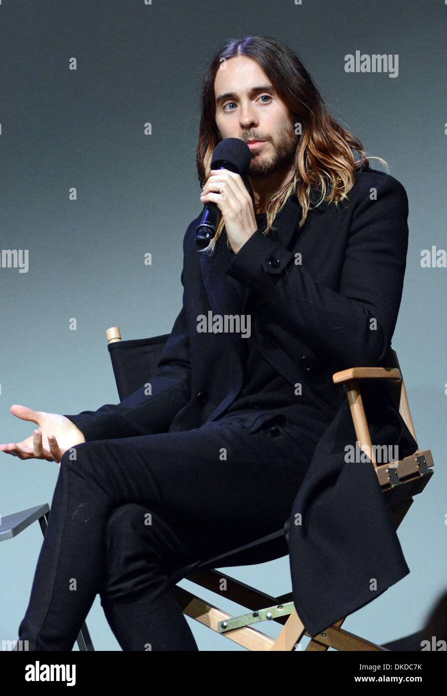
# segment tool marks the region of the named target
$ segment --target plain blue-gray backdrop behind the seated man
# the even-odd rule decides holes
[[[11,404],[77,413],[118,402],[109,326],[123,339],[171,330],[182,300],[182,237],[202,209],[199,86],[224,40],[260,34],[287,42],[334,116],[405,186],[409,251],[393,347],[436,474],[398,532],[411,573],[343,628],[375,642],[416,631],[446,585],[447,271],[421,267],[424,248],[446,247],[444,0],[16,0],[3,1],[0,17],[1,249],[29,250],[26,273],[0,268],[0,442],[33,429],[12,416]],[[345,55],[356,50],[398,54],[398,77],[345,72]],[[77,70],[69,70],[73,57]],[[1,515],[51,503],[57,464],[1,452],[0,461]],[[17,638],[41,543],[35,523],[1,544],[1,640]],[[229,572],[271,594],[291,589],[287,557]],[[201,650],[242,649],[188,621]],[[98,597],[87,623],[96,649],[119,649]]]

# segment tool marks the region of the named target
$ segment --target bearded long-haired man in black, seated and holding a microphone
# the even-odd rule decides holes
[[[249,145],[248,182],[210,170],[226,138]],[[19,627],[29,649],[72,649],[100,593],[123,649],[196,650],[171,578],[281,528],[343,400],[331,375],[391,345],[405,189],[370,169],[279,40],[212,58],[197,169],[222,219],[200,253],[200,216],[187,228],[183,306],[151,393],[73,416],[11,407],[39,427],[3,452],[60,463]],[[210,311],[251,317],[251,333],[199,331]]]

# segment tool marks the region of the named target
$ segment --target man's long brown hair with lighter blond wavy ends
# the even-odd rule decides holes
[[[301,123],[301,136],[295,152],[295,172],[292,180],[284,184],[269,198],[265,206],[267,225],[263,234],[267,235],[276,214],[285,205],[289,196],[297,196],[303,215],[299,226],[302,227],[311,207],[312,189],[320,193],[320,200],[336,205],[347,197],[354,185],[354,175],[362,168],[369,168],[367,157],[361,141],[343,128],[331,116],[320,92],[303,63],[288,46],[269,36],[246,36],[226,42],[212,58],[201,88],[201,124],[196,152],[198,180],[204,186],[210,176],[212,153],[221,140],[216,125],[216,103],[214,79],[222,63],[235,56],[249,56],[257,61],[260,68],[271,81],[276,94],[288,107],[295,126]],[[359,152],[360,159],[354,159],[352,149]],[[328,184],[330,192],[327,195]],[[251,189],[251,187],[250,187]],[[253,200],[253,191],[249,191]],[[253,200],[254,203],[254,200]],[[205,249],[213,253],[215,244],[224,228],[222,218],[216,235]],[[228,240],[227,240],[228,244]]]

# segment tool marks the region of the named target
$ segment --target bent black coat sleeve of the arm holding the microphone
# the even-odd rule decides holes
[[[339,292],[315,283],[293,251],[262,235],[245,242],[227,273],[252,287],[286,326],[310,347],[348,367],[384,358],[398,317],[408,247],[407,193],[394,177],[364,189],[352,212]],[[269,264],[276,258],[277,267]],[[279,260],[279,264],[278,264]],[[372,321],[372,320],[376,321]]]

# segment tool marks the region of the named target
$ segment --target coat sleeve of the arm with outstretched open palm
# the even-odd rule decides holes
[[[189,228],[183,240],[184,256],[188,231]],[[185,262],[180,277],[182,286],[184,286],[184,269]],[[150,395],[146,394],[147,382],[151,385]],[[96,411],[63,415],[75,423],[87,442],[149,435],[168,430],[175,414],[191,398],[191,361],[185,314],[185,289],[182,309],[164,345],[157,370],[148,376],[146,383],[119,404],[104,404]]]

